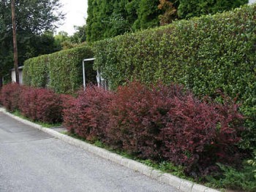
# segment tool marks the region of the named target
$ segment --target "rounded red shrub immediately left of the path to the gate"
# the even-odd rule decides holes
[[[61,97],[45,88],[23,88],[20,112],[32,120],[58,123],[62,120]]]

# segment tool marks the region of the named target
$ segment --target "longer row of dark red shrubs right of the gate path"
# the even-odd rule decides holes
[[[132,82],[116,93],[90,87],[64,110],[64,125],[85,139],[205,175],[217,162],[241,161],[236,144],[243,117],[237,104],[223,100],[200,101],[179,85]]]

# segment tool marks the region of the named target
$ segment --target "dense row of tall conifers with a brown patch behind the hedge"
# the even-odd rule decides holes
[[[246,3],[248,0],[89,0],[87,41],[223,12]]]

